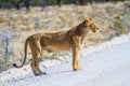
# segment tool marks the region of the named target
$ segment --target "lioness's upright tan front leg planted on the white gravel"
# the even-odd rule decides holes
[[[74,45],[72,48],[73,52],[73,70],[77,71],[77,70],[81,70],[80,67],[80,42],[81,42],[81,38],[80,37],[74,37]]]

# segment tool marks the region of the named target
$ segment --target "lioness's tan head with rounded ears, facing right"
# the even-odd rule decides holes
[[[92,18],[87,17],[84,19],[84,23],[86,23],[86,26],[89,27],[93,32],[96,32],[96,30],[99,30],[99,27],[96,26],[96,24]]]

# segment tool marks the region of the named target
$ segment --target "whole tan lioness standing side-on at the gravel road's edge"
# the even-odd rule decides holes
[[[92,18],[88,17],[81,24],[72,28],[68,31],[40,32],[32,34],[28,37],[25,42],[25,58],[23,63],[21,66],[16,66],[16,63],[14,63],[13,66],[16,68],[21,68],[24,66],[27,56],[27,45],[29,44],[32,55],[31,70],[35,75],[43,74],[39,69],[39,61],[42,51],[72,51],[73,70],[80,70],[81,67],[79,64],[79,60],[82,41],[84,40],[88,31],[96,32],[96,30],[99,30],[98,26],[92,20]]]

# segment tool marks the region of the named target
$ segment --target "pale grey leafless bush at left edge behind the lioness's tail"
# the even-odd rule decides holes
[[[14,40],[14,32],[12,30],[0,31],[0,67],[4,69],[10,64],[10,57],[13,55],[12,42]]]

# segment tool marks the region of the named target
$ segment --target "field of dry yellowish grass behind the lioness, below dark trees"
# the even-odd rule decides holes
[[[24,42],[28,35],[40,31],[68,30],[86,17],[92,17],[100,27],[98,33],[88,33],[84,42],[86,47],[109,40],[117,34],[127,33],[129,27],[123,28],[121,22],[119,23],[115,17],[118,16],[122,19],[123,16],[130,14],[130,4],[128,3],[130,2],[108,2],[84,6],[74,4],[63,5],[62,8],[48,6],[43,12],[40,12],[40,8],[31,8],[28,13],[25,9],[21,11],[13,9],[10,11],[0,10],[0,30],[11,29],[16,35],[13,42],[14,53],[10,57],[11,60],[9,60],[10,64],[14,59],[18,59],[24,55]],[[115,24],[118,25],[115,26]],[[119,26],[122,27],[121,30]]]

